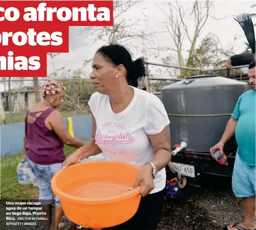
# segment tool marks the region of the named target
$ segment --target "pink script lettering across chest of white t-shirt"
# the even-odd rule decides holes
[[[120,132],[119,134],[115,134],[114,132],[102,134],[101,132],[102,130],[99,130],[95,136],[96,144],[130,144],[134,141],[134,137],[129,132]]]

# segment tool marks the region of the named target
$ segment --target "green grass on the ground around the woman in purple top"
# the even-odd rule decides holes
[[[65,146],[65,155],[71,155],[76,148]],[[38,198],[38,188],[32,185],[20,185],[17,178],[17,165],[24,154],[1,158],[1,199]]]

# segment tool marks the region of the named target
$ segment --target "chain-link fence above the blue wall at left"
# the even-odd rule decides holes
[[[88,100],[94,85],[88,79],[57,79],[66,87],[64,101],[58,108],[63,117],[89,113]],[[39,89],[45,79],[39,80]],[[1,124],[24,122],[28,109],[36,103],[33,80],[1,81]]]

